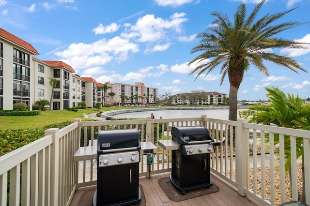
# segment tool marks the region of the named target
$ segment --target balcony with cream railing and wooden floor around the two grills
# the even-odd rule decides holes
[[[222,142],[211,153],[210,163],[211,180],[219,192],[182,202],[171,201],[163,192],[157,182],[171,173],[171,150],[164,150],[157,140],[167,140],[171,135],[171,125],[202,125],[208,128],[213,138]],[[139,128],[141,142],[152,142],[157,147],[151,170],[147,169],[146,159],[141,156],[139,183],[147,205],[276,206],[298,200],[301,177],[297,176],[300,160],[296,160],[296,140],[299,138],[303,140],[306,203],[310,205],[310,131],[206,116],[85,122],[75,119],[65,128],[48,129],[43,138],[0,157],[1,204],[6,205],[9,188],[9,205],[19,205],[20,202],[24,205],[78,205],[78,197],[96,186],[96,158],[75,162],[75,152],[79,147],[93,145],[97,138],[95,131],[121,128]],[[89,139],[83,137],[86,133],[91,133]],[[290,141],[286,141],[287,135]],[[276,136],[279,144],[274,146]],[[264,144],[267,137],[269,143]],[[284,151],[288,147],[291,160],[296,160],[290,165],[292,188],[285,180],[288,177],[284,168]],[[276,165],[277,161],[279,164]]]

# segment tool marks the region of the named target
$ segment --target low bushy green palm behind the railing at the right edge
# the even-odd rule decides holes
[[[249,110],[258,111],[249,122],[254,123],[273,123],[279,127],[310,130],[310,104],[306,104],[301,98],[285,93],[277,87],[266,88],[267,97],[270,100],[268,105],[254,105],[248,107]],[[248,115],[246,116],[248,118]],[[266,142],[269,142],[266,136]],[[274,145],[279,144],[279,135],[275,135]],[[284,136],[285,170],[291,176],[291,147],[290,136]],[[303,189],[299,201],[306,202],[305,191],[305,165],[304,165],[303,138],[296,138],[296,156],[302,159]],[[290,178],[291,179],[291,178]]]

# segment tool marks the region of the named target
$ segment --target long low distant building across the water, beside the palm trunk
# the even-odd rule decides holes
[[[218,105],[225,104],[227,94],[218,93],[216,91],[210,92],[194,92],[194,93],[180,93],[171,95],[169,99],[170,104],[187,104],[187,105]]]

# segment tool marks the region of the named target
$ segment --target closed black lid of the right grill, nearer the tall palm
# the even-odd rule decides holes
[[[171,135],[180,145],[214,142],[209,130],[202,126],[171,127]]]

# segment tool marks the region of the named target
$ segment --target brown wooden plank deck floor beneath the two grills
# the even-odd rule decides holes
[[[153,175],[151,178],[140,177],[139,184],[143,188],[147,206],[256,206],[248,200],[248,197],[240,196],[232,188],[213,177],[213,183],[219,188],[218,192],[181,202],[171,201],[158,184],[158,179],[169,177],[170,174],[169,172]],[[85,189],[80,188],[75,192],[71,206],[78,206],[79,197],[84,191]]]

